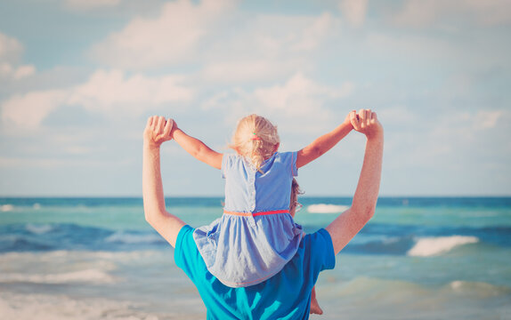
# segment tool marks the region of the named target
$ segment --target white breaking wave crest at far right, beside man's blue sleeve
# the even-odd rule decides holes
[[[479,239],[475,236],[438,236],[419,238],[418,242],[407,254],[412,257],[430,257],[464,244],[476,244]]]

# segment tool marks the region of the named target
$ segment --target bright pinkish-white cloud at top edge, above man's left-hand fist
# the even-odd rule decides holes
[[[166,3],[157,19],[136,18],[93,47],[95,59],[115,68],[161,68],[190,60],[199,41],[231,8],[231,0]]]

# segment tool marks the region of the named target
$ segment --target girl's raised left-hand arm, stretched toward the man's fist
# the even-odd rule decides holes
[[[177,127],[174,122],[174,128],[170,133],[172,139],[174,139],[186,152],[191,154],[197,160],[203,163],[209,164],[216,169],[222,168],[223,154],[216,152],[212,148],[197,138],[193,138],[190,135],[183,132],[183,130]]]

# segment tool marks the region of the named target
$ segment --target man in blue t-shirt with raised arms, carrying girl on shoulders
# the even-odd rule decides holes
[[[166,212],[159,148],[171,140],[172,121],[152,116],[144,131],[142,187],[146,220],[175,248],[178,267],[191,278],[207,308],[208,319],[307,319],[312,287],[320,271],[335,267],[335,256],[371,219],[381,178],[384,134],[377,115],[361,109],[350,116],[363,133],[366,150],[351,207],[319,231],[304,236],[295,257],[275,276],[242,288],[223,285],[206,268],[193,228]]]

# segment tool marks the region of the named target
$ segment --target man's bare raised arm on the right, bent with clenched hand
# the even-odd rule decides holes
[[[334,252],[340,252],[374,215],[381,180],[384,133],[377,115],[370,110],[352,114],[353,128],[366,135],[366,151],[352,206],[326,228],[332,237]]]

